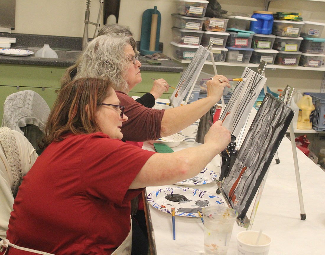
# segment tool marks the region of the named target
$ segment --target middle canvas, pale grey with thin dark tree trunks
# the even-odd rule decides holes
[[[239,137],[251,109],[267,80],[248,67],[245,67],[241,78],[246,80],[237,83],[225,110],[219,118],[220,120],[224,119],[223,126],[230,130],[231,134],[236,138]]]

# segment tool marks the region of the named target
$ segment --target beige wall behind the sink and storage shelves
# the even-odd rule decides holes
[[[222,9],[228,12],[241,12],[252,15],[254,10],[264,9],[264,0],[219,0]],[[231,4],[229,4],[231,3]],[[157,6],[162,16],[160,42],[164,44],[163,53],[171,56],[172,20],[175,13],[174,0],[121,0],[119,24],[129,27],[136,40],[140,40],[142,14],[146,9]],[[16,0],[16,27],[13,32],[82,37],[84,31],[86,0]],[[96,22],[99,1],[91,1],[90,21]],[[325,2],[284,0],[271,2],[269,11],[301,12],[303,18],[325,23]],[[102,23],[102,15],[100,22]],[[89,37],[94,34],[94,26],[89,25]],[[325,38],[325,31],[322,33]],[[219,74],[239,77],[241,67],[217,66]],[[204,72],[214,73],[212,66],[205,66]],[[267,85],[272,91],[283,89],[287,84],[302,91],[320,92],[323,73],[320,71],[301,71],[266,69]],[[168,79],[166,77],[166,79]]]

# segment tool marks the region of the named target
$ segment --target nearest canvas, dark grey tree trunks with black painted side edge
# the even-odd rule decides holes
[[[285,135],[294,112],[267,93],[222,185],[230,206],[243,219]]]

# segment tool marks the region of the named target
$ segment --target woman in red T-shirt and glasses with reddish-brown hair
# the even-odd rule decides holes
[[[8,255],[130,254],[130,201],[147,186],[197,175],[230,142],[218,121],[198,147],[149,152],[121,141],[123,112],[108,80],[77,79],[59,91],[46,149],[15,199]]]

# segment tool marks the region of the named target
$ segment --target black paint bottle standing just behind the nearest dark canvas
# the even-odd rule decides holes
[[[229,155],[226,149],[221,152],[222,161],[221,161],[219,181],[222,181],[224,177],[226,178],[228,176],[231,167],[234,165],[236,161],[239,151],[236,149],[235,140],[236,137],[231,135],[231,142],[227,146]]]

